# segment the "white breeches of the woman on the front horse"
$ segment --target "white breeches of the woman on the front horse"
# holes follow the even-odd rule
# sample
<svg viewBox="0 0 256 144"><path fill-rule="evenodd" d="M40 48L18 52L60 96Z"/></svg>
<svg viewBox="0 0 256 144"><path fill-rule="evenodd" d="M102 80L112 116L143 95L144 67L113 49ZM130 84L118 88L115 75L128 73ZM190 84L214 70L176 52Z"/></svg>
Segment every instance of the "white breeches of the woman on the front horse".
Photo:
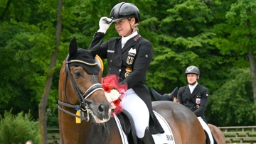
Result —
<svg viewBox="0 0 256 144"><path fill-rule="evenodd" d="M143 138L145 129L149 126L149 109L132 88L127 90L122 99L122 108L132 115L137 137Z"/></svg>

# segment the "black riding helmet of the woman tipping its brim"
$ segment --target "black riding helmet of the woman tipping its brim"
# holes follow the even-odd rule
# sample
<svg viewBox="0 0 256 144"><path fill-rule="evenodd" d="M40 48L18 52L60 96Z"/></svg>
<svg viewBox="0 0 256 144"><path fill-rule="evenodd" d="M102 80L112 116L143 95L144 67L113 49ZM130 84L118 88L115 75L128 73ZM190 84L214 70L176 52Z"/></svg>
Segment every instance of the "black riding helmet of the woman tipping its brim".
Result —
<svg viewBox="0 0 256 144"><path fill-rule="evenodd" d="M112 22L118 21L123 18L135 17L136 23L139 23L139 9L132 3L121 2L113 7L110 12L110 18Z"/></svg>

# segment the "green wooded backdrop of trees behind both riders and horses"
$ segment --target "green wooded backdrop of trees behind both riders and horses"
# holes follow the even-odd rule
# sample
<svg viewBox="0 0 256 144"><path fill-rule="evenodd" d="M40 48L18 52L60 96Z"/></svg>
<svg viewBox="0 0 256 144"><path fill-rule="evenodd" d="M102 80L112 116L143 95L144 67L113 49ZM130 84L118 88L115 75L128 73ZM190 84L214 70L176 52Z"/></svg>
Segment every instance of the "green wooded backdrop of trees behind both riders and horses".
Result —
<svg viewBox="0 0 256 144"><path fill-rule="evenodd" d="M1 121L4 113L22 113L38 123L41 107L47 128L58 128L58 77L70 40L76 37L78 46L87 49L100 18L110 16L112 7L122 1L61 2L58 17L60 1L0 0ZM209 91L208 123L255 126L256 1L125 2L139 8L139 33L154 46L146 77L149 89L167 94L182 87L187 84L186 67L196 65L201 71L198 82ZM104 40L118 36L112 25Z"/></svg>

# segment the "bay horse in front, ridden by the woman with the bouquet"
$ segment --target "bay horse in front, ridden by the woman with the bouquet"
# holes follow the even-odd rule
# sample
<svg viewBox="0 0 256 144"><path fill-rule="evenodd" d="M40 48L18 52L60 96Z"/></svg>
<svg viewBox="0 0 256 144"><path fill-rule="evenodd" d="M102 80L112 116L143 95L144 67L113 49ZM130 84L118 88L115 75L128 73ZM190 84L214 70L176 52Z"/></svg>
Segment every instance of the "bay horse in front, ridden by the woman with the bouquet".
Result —
<svg viewBox="0 0 256 144"><path fill-rule="evenodd" d="M95 64L95 55L78 48L73 38L60 70L58 121L61 144L122 144L117 123L110 116L110 104L100 85L101 74L102 70ZM201 123L185 106L172 101L154 101L152 105L169 124L176 144L205 144Z"/></svg>

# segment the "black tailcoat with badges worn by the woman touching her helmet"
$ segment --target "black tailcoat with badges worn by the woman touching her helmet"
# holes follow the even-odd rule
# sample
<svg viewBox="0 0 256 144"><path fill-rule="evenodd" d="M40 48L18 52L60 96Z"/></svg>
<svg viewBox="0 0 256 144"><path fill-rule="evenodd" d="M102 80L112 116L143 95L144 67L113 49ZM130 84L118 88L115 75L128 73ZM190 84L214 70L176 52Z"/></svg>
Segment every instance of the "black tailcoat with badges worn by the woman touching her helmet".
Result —
<svg viewBox="0 0 256 144"><path fill-rule="evenodd" d="M124 79L122 83L127 83L128 89L134 92L145 102L149 109L149 128L152 134L164 133L159 121L152 110L151 95L145 84L146 70L153 58L153 48L149 40L142 38L139 34L127 40L122 48L121 37L110 38L102 44L104 33L96 33L89 46L93 55L97 54L102 59L107 58L108 73L116 74ZM135 52L136 54L132 54ZM132 70L128 77L124 77L127 67ZM139 109L139 106L137 106Z"/></svg>

